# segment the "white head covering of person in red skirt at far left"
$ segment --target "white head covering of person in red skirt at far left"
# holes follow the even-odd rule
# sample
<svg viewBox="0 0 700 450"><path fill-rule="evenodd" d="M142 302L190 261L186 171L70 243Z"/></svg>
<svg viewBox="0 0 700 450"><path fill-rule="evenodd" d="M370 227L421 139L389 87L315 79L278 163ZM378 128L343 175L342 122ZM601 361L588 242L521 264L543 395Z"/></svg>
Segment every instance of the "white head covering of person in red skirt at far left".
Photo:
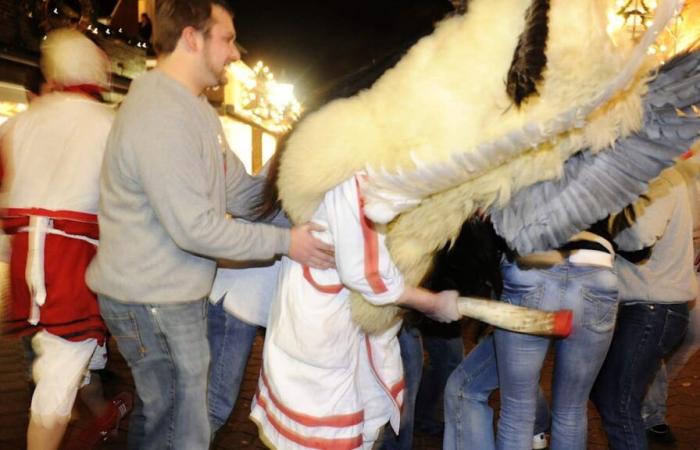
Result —
<svg viewBox="0 0 700 450"><path fill-rule="evenodd" d="M47 81L109 87L110 70L107 55L77 30L51 31L41 44L41 71Z"/></svg>

